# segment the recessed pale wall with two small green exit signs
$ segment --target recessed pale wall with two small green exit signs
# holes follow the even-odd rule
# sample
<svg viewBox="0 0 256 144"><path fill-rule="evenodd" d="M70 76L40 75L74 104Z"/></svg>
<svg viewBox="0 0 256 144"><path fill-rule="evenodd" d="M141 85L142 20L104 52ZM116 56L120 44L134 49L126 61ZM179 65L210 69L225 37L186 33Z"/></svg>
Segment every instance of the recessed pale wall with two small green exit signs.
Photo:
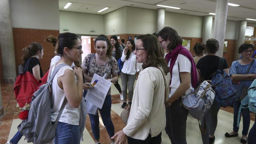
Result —
<svg viewBox="0 0 256 144"><path fill-rule="evenodd" d="M68 28L69 31L63 31ZM90 32L90 30L95 32ZM60 33L70 32L77 34L100 35L104 33L103 15L60 11Z"/></svg>

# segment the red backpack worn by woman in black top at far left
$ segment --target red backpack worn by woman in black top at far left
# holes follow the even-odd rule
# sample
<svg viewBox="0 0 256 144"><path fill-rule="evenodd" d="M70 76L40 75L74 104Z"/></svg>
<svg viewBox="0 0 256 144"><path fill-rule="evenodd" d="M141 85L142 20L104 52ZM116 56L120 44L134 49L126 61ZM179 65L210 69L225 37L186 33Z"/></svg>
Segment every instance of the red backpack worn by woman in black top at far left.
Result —
<svg viewBox="0 0 256 144"><path fill-rule="evenodd" d="M17 76L13 91L19 107L24 107L26 103L30 104L38 85L39 81L29 71Z"/></svg>

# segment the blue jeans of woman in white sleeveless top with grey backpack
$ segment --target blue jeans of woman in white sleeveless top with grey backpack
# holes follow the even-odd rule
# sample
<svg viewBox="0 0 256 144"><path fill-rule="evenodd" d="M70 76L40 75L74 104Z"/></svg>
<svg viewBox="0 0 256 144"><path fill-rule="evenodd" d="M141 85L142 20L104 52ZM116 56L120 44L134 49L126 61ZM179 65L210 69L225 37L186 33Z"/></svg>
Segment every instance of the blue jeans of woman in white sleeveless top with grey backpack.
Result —
<svg viewBox="0 0 256 144"><path fill-rule="evenodd" d="M54 144L80 144L79 125L58 122Z"/></svg>

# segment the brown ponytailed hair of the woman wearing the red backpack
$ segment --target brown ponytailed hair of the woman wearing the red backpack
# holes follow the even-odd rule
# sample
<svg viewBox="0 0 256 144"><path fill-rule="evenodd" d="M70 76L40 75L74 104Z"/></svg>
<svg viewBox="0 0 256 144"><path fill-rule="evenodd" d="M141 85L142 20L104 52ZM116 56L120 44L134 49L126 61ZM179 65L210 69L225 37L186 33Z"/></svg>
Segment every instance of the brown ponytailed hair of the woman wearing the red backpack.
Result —
<svg viewBox="0 0 256 144"><path fill-rule="evenodd" d="M31 42L31 44L22 49L22 66L26 63L26 61L31 57L35 56L38 51L42 52L42 45L37 42Z"/></svg>

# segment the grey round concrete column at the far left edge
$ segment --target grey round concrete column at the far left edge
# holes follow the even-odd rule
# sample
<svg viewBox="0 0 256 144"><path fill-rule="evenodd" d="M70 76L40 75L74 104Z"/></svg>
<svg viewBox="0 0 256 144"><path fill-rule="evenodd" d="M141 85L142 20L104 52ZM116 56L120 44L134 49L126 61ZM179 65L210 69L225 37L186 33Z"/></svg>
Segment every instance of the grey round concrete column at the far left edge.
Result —
<svg viewBox="0 0 256 144"><path fill-rule="evenodd" d="M0 44L5 83L14 83L16 78L13 29L10 0L0 0Z"/></svg>

